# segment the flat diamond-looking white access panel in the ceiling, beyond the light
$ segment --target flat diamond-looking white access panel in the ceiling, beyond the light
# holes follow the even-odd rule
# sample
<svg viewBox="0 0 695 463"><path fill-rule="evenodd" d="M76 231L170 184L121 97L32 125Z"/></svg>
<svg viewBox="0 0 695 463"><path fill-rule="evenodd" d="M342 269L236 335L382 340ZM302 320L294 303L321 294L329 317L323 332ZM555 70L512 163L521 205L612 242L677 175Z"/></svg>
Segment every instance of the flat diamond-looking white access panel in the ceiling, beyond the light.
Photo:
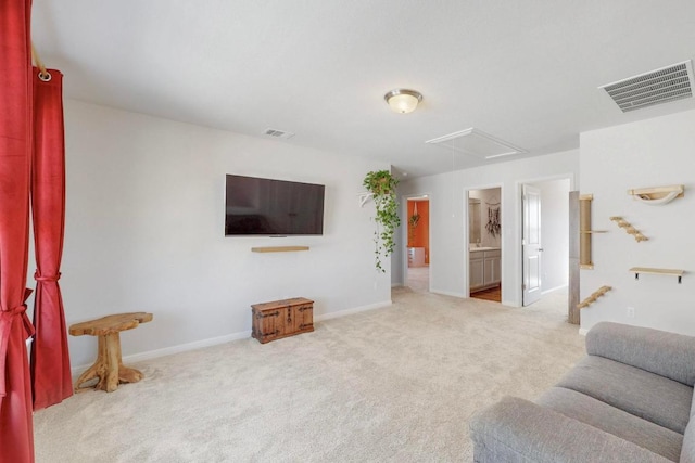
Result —
<svg viewBox="0 0 695 463"><path fill-rule="evenodd" d="M470 129L460 130L458 132L428 140L425 143L483 159L492 159L494 157L509 156L527 152L511 143L507 143L504 140L500 140L498 138L472 127Z"/></svg>

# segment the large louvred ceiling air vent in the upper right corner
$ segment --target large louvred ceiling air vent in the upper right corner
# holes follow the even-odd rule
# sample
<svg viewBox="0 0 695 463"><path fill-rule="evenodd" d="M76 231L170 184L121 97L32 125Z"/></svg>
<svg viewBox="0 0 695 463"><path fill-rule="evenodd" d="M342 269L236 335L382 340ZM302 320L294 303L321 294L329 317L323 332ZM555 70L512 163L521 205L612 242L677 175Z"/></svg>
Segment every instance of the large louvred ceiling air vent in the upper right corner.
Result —
<svg viewBox="0 0 695 463"><path fill-rule="evenodd" d="M678 63L599 87L623 113L693 97L693 63Z"/></svg>

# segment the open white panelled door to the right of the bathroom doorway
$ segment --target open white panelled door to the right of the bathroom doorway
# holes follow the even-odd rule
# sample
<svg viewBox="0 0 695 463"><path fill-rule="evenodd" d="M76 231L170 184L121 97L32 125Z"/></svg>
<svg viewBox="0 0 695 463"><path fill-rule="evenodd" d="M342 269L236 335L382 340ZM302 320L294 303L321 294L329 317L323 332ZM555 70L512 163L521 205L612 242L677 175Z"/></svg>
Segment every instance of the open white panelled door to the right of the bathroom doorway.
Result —
<svg viewBox="0 0 695 463"><path fill-rule="evenodd" d="M541 190L523 185L523 305L541 298Z"/></svg>

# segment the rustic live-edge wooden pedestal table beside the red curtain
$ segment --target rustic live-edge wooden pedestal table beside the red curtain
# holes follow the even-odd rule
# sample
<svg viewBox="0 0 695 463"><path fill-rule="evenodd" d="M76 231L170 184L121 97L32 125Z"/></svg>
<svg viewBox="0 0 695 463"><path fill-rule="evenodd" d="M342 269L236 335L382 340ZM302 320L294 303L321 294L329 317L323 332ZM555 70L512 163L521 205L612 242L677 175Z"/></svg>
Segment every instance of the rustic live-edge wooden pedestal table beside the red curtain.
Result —
<svg viewBox="0 0 695 463"><path fill-rule="evenodd" d="M152 313L134 312L108 316L88 322L76 323L70 327L70 334L81 336L99 336L99 351L97 361L75 383L75 393L91 389L92 386L80 387L96 377L99 382L94 389L113 393L121 383L137 383L142 380L142 373L136 369L124 366L121 360L121 332L132 330L140 323L152 320Z"/></svg>

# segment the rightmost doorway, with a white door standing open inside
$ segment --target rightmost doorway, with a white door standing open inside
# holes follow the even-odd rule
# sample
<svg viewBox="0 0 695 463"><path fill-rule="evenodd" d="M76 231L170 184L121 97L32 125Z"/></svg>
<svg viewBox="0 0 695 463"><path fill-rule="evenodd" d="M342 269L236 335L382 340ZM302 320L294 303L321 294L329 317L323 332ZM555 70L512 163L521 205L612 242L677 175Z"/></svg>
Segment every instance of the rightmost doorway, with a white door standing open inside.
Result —
<svg viewBox="0 0 695 463"><path fill-rule="evenodd" d="M522 306L553 293L564 299L569 282L570 179L521 184Z"/></svg>

